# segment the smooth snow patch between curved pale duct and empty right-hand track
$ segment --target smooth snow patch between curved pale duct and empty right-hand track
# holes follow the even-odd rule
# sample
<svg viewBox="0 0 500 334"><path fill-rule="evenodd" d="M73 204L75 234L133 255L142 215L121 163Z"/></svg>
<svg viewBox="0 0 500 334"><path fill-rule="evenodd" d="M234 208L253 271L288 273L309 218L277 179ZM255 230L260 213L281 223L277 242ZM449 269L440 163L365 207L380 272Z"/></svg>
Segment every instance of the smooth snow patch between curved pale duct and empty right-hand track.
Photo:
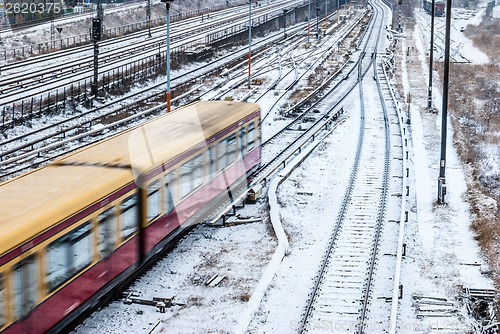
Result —
<svg viewBox="0 0 500 334"><path fill-rule="evenodd" d="M250 333L293 333L302 319L353 165L359 105L279 189L280 214L290 242ZM347 168L346 168L347 167Z"/></svg>

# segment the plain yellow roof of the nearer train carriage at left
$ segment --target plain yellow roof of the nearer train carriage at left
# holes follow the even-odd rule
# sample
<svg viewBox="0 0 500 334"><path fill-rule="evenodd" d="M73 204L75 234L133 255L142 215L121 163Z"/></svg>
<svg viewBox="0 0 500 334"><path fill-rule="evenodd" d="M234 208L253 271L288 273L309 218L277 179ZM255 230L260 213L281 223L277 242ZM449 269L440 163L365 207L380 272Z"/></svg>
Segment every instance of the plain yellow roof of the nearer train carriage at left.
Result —
<svg viewBox="0 0 500 334"><path fill-rule="evenodd" d="M129 169L49 165L0 186L0 256L126 184Z"/></svg>

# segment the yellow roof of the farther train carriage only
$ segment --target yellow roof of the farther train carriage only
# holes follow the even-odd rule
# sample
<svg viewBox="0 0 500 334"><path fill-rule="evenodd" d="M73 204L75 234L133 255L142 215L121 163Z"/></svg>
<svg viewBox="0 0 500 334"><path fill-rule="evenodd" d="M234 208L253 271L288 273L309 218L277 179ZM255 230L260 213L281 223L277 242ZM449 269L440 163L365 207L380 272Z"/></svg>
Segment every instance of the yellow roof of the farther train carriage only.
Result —
<svg viewBox="0 0 500 334"><path fill-rule="evenodd" d="M125 134L71 154L58 163L131 166L147 172L259 110L253 103L199 102ZM167 149L166 149L167 148Z"/></svg>

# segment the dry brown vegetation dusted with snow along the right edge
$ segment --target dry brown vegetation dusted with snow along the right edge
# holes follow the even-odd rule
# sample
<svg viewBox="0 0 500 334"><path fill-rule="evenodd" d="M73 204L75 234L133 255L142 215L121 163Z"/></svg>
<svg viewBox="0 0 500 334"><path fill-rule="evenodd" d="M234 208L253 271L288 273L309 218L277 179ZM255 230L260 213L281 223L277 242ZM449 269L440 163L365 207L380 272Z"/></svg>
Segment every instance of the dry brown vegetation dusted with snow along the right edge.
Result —
<svg viewBox="0 0 500 334"><path fill-rule="evenodd" d="M485 18L467 34L490 63L451 64L449 107L454 143L468 169L472 228L500 289L500 20Z"/></svg>

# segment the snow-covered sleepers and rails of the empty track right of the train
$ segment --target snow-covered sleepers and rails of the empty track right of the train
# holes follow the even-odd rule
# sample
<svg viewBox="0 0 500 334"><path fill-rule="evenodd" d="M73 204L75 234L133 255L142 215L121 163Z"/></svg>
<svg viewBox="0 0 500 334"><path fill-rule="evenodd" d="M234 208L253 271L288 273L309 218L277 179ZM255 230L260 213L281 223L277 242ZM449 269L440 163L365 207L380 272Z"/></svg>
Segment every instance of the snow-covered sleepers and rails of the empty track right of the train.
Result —
<svg viewBox="0 0 500 334"><path fill-rule="evenodd" d="M356 324L357 332L364 332L362 324L385 212L390 158L387 124L381 128L383 115L370 110L372 108L365 108L366 123L350 187L308 306L305 329L314 326L315 322L328 321Z"/></svg>

